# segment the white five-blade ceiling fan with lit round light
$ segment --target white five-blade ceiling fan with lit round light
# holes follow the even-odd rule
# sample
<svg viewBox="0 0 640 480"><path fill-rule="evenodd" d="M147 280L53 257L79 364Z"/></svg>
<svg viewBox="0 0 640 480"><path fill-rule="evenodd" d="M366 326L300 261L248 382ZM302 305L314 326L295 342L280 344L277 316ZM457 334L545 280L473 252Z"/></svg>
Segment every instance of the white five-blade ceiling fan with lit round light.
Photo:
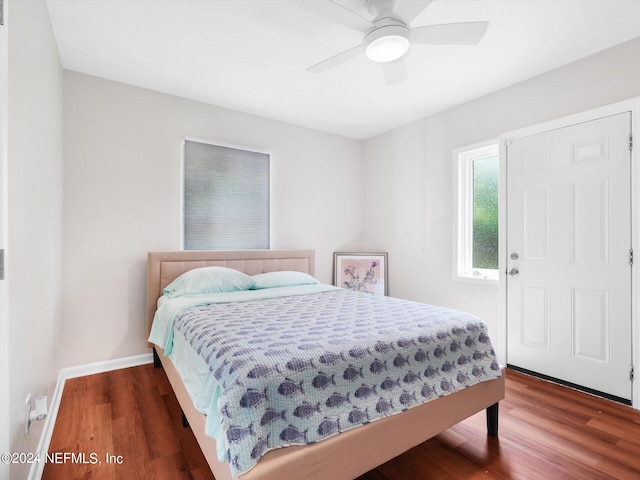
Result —
<svg viewBox="0 0 640 480"><path fill-rule="evenodd" d="M302 0L304 9L364 34L362 43L307 68L322 73L365 54L382 65L387 85L407 78L404 55L411 44L475 45L489 22L445 23L410 27L433 0L358 0L371 20L334 0Z"/></svg>

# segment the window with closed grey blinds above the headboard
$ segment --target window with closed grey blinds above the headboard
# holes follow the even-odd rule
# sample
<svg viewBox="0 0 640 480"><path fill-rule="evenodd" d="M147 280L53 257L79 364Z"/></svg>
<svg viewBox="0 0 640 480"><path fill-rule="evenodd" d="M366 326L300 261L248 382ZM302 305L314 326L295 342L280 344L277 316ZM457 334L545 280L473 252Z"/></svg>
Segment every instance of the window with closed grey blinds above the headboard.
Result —
<svg viewBox="0 0 640 480"><path fill-rule="evenodd" d="M269 155L184 142L184 249L269 248Z"/></svg>

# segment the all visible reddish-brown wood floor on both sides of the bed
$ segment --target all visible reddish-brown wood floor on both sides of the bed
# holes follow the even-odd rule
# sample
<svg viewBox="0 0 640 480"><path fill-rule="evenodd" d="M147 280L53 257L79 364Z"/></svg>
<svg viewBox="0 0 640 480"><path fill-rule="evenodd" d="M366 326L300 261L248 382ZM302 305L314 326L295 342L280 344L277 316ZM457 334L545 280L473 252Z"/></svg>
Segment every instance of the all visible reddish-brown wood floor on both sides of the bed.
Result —
<svg viewBox="0 0 640 480"><path fill-rule="evenodd" d="M640 479L640 412L513 371L500 405L498 439L480 413L360 480ZM212 479L180 418L151 365L70 379L49 449L60 463L43 478Z"/></svg>

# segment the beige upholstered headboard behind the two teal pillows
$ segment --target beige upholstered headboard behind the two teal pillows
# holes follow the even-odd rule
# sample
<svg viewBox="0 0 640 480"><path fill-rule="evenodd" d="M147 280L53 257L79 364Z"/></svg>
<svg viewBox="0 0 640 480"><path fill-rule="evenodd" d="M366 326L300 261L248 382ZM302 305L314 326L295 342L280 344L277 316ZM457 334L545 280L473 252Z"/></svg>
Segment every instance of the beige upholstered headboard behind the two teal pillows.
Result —
<svg viewBox="0 0 640 480"><path fill-rule="evenodd" d="M180 274L199 267L235 268L248 275L294 270L314 274L314 250L179 250L147 255L147 336L162 289Z"/></svg>

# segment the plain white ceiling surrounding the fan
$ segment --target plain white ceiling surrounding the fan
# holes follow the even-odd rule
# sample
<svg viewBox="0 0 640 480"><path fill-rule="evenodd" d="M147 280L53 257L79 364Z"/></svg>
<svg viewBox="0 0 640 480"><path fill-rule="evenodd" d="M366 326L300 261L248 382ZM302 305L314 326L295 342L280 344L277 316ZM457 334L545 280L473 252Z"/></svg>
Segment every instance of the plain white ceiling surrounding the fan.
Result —
<svg viewBox="0 0 640 480"><path fill-rule="evenodd" d="M413 45L409 78L386 86L365 57L307 72L362 34L300 0L47 3L66 69L355 139L640 36L640 0L435 0L412 27L488 20L487 34L476 46Z"/></svg>

